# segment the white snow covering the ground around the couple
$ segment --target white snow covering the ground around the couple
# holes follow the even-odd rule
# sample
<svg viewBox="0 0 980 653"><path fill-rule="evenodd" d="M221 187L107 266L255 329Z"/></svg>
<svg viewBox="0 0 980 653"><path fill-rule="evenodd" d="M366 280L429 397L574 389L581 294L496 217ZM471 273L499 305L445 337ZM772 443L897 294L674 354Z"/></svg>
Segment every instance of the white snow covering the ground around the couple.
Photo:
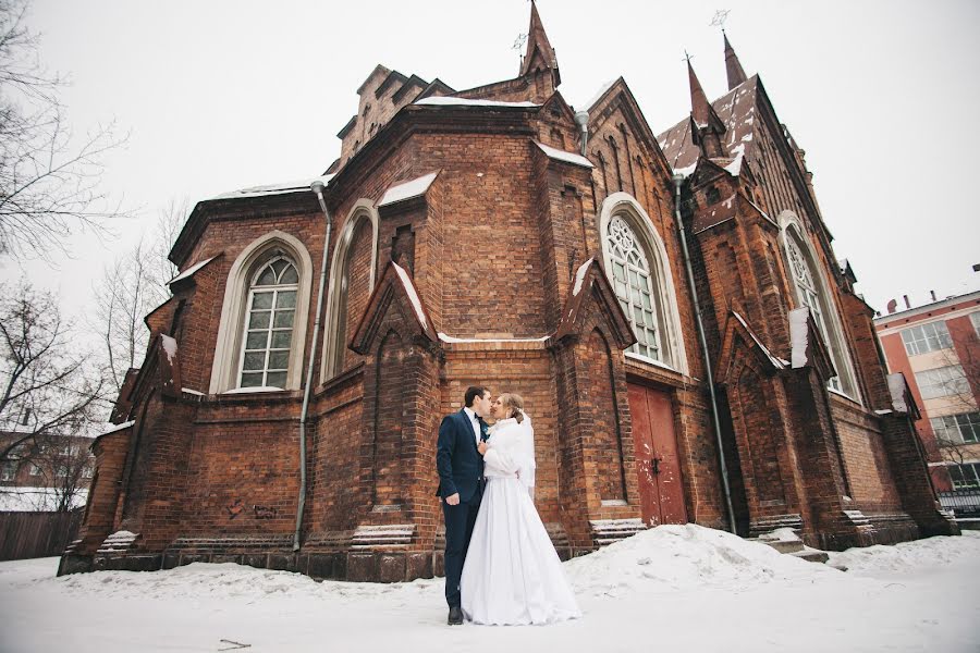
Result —
<svg viewBox="0 0 980 653"><path fill-rule="evenodd" d="M697 526L565 564L585 612L543 627L449 627L441 579L316 582L194 564L54 578L0 563L0 651L977 651L980 533L833 554L840 571ZM222 641L226 640L226 641Z"/></svg>

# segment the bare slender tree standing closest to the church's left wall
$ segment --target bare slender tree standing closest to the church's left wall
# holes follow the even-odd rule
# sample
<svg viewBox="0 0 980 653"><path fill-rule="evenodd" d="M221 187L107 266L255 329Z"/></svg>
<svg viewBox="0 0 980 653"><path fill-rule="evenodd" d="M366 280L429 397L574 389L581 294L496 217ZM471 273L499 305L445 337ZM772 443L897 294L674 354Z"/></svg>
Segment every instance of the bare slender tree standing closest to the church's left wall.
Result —
<svg viewBox="0 0 980 653"><path fill-rule="evenodd" d="M118 393L126 370L143 361L149 331L143 319L170 297L167 282L176 275L168 260L170 247L183 224L186 202L171 201L146 236L107 268L94 288L93 328L102 342L103 371Z"/></svg>

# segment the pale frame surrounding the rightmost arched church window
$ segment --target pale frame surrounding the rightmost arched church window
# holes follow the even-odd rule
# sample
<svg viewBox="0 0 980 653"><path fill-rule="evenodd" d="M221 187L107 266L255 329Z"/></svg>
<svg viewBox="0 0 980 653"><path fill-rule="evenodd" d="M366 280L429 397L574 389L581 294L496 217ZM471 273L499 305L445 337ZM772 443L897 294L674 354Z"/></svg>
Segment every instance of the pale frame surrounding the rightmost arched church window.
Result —
<svg viewBox="0 0 980 653"><path fill-rule="evenodd" d="M817 328L826 343L831 360L837 371L836 377L828 380L828 389L857 403L861 403L857 375L854 371L854 361L850 358L850 350L844 338L844 328L834 295L829 291L830 285L823 274L823 267L818 264L820 259L813 251L807 230L804 229L803 222L792 211L783 211L780 214L780 239L783 245L788 282L795 291L795 307L806 306L810 309L810 315L813 317L813 321L817 323ZM793 266L792 246L795 246L803 256L801 262L806 266L806 271L812 279L812 288L806 288L798 283ZM814 304L817 315L814 315Z"/></svg>

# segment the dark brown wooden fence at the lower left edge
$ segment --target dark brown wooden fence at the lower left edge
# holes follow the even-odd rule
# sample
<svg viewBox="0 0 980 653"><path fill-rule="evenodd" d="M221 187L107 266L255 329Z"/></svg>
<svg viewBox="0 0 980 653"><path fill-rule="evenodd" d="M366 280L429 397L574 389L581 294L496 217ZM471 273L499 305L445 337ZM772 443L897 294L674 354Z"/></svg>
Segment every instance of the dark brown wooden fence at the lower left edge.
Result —
<svg viewBox="0 0 980 653"><path fill-rule="evenodd" d="M0 513L0 560L61 555L81 526L82 510Z"/></svg>

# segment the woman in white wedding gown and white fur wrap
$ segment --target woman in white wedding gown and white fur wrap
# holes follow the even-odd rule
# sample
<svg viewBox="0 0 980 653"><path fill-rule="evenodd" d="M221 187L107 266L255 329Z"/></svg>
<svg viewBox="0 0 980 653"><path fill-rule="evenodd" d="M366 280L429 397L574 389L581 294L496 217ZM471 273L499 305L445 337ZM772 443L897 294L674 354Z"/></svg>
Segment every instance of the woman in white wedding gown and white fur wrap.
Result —
<svg viewBox="0 0 980 653"><path fill-rule="evenodd" d="M554 545L535 509L535 431L524 399L493 402L497 423L479 446L487 489L461 580L475 624L550 624L581 616Z"/></svg>

